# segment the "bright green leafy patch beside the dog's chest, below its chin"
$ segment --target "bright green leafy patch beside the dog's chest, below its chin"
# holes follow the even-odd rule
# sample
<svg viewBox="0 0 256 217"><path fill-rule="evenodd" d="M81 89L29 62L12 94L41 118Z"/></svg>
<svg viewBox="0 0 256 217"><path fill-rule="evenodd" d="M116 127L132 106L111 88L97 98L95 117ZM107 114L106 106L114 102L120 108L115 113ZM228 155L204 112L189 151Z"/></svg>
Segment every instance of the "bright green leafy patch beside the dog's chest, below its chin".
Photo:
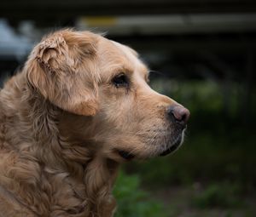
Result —
<svg viewBox="0 0 256 217"><path fill-rule="evenodd" d="M140 188L137 175L121 172L113 194L118 202L115 217L166 217L162 203Z"/></svg>

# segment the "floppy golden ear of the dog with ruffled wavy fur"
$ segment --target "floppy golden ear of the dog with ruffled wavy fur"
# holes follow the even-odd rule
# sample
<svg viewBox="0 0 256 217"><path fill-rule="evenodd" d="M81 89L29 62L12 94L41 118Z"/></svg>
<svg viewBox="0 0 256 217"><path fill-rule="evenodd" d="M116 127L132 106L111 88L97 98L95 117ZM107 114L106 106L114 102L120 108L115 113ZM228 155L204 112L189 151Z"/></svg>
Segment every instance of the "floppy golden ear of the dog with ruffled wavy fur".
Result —
<svg viewBox="0 0 256 217"><path fill-rule="evenodd" d="M96 38L90 32L65 30L43 39L26 62L32 88L63 110L95 115L99 82Z"/></svg>

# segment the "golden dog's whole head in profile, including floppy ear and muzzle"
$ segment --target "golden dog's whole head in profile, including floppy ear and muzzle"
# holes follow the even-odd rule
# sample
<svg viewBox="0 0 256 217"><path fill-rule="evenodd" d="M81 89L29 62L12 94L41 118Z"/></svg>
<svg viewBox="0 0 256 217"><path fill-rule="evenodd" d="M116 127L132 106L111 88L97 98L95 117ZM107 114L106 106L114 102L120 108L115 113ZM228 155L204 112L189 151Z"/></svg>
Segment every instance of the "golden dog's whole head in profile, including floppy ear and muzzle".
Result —
<svg viewBox="0 0 256 217"><path fill-rule="evenodd" d="M147 66L125 45L58 31L35 47L26 71L33 89L70 114L66 133L76 131L105 157L163 156L183 142L189 111L150 89Z"/></svg>

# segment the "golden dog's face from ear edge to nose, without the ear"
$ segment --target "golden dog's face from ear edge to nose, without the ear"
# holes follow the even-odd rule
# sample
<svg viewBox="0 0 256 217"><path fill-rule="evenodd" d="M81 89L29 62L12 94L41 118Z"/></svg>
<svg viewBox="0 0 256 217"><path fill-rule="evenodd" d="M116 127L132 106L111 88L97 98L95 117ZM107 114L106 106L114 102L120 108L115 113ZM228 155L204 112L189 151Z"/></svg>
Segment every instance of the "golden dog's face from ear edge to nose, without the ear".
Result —
<svg viewBox="0 0 256 217"><path fill-rule="evenodd" d="M189 111L150 89L148 68L132 49L103 38L98 54L102 83L96 140L105 153L129 159L174 151L182 143ZM183 116L180 122L175 112Z"/></svg>

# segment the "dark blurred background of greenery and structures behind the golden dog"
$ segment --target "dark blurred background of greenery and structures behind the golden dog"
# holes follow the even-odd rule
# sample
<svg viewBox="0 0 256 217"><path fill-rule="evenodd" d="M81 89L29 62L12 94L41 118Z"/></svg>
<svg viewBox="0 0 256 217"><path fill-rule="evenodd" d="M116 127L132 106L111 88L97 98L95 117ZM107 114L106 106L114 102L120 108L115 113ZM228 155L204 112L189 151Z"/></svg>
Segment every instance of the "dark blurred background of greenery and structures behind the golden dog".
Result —
<svg viewBox="0 0 256 217"><path fill-rule="evenodd" d="M191 112L176 153L124 165L115 216L256 216L256 2L3 0L1 87L45 33L67 26L136 49L153 89Z"/></svg>

